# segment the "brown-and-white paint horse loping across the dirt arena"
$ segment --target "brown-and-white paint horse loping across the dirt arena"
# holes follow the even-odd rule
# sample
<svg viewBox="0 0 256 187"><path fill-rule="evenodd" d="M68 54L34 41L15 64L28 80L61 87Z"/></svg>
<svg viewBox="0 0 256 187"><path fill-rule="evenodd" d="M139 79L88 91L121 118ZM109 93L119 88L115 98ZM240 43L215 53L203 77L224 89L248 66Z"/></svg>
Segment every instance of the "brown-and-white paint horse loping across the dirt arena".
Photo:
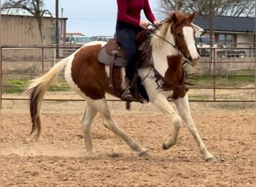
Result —
<svg viewBox="0 0 256 187"><path fill-rule="evenodd" d="M189 99L186 94L185 71L182 65L183 58L186 58L192 66L198 63L199 55L195 45L195 30L192 27L194 18L195 12L191 15L186 15L180 11L170 13L160 28L150 34L152 64L148 67L138 68L138 76L141 78L141 84L147 92L149 101L166 114L174 125L172 135L164 141L162 148L166 150L177 144L181 116L195 138L199 152L204 155L204 159L208 162L215 158L205 147L192 120ZM107 129L124 140L132 150L138 152L139 156L147 156L147 150L129 138L118 127L109 111L105 94L119 95L109 86L109 65L100 63L97 58L100 49L105 45L106 43L97 41L85 44L72 55L55 64L48 73L31 82L26 91L30 96L31 134L36 132L37 138L40 137L40 108L43 96L52 79L66 67L64 76L68 85L87 102L81 119L87 153L89 155L95 153L91 138L91 123L99 112L103 125ZM112 71L113 77L111 79L113 79L115 90L124 93L126 91L124 67L113 67ZM167 96L170 95L180 115L174 111L168 102Z"/></svg>

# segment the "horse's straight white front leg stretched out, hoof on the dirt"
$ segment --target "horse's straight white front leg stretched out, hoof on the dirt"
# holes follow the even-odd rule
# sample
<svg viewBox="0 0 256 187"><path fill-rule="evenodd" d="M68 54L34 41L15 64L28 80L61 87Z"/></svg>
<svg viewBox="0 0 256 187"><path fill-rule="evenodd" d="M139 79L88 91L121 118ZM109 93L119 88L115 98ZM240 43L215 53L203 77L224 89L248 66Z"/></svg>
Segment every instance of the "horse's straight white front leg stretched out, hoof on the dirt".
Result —
<svg viewBox="0 0 256 187"><path fill-rule="evenodd" d="M214 156L205 147L204 142L202 141L198 133L198 129L195 126L194 120L192 119L192 116L190 114L188 96L186 95L183 98L174 99L174 103L177 106L177 110L179 111L180 116L185 121L186 126L188 127L192 136L195 138L195 142L198 144L198 150L201 154L204 155L204 159L207 162L215 161Z"/></svg>

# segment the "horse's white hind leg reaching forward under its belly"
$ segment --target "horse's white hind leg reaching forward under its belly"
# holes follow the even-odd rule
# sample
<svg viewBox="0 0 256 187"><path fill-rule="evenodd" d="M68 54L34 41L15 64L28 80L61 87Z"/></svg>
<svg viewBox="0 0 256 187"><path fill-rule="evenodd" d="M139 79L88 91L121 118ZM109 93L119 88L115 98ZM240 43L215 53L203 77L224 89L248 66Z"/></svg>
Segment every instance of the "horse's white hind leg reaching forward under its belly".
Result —
<svg viewBox="0 0 256 187"><path fill-rule="evenodd" d="M129 136L123 132L118 125L113 120L110 111L109 106L106 102L106 99L87 99L88 102L91 103L91 105L94 105L94 107L97 109L97 111L100 113L100 116L103 118L103 125L114 132L116 135L118 135L120 138L122 138L128 145L131 147L132 150L135 150L138 152L139 156L147 156L147 151L144 150L143 147L141 147L139 144L137 144L135 141L132 140L132 138L129 138Z"/></svg>

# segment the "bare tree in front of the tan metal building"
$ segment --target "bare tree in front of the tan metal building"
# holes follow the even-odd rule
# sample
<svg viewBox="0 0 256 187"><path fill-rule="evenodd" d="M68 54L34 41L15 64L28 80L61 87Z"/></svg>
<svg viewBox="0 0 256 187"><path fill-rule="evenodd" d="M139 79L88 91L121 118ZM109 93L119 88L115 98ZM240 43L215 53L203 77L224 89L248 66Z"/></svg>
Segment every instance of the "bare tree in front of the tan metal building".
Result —
<svg viewBox="0 0 256 187"><path fill-rule="evenodd" d="M43 15L48 13L52 16L49 10L43 9L43 0L5 0L1 5L1 10L7 10L8 13L13 13L14 11L24 11L25 13L30 13L37 19L38 29L40 31L41 44L45 45L45 33L43 30Z"/></svg>

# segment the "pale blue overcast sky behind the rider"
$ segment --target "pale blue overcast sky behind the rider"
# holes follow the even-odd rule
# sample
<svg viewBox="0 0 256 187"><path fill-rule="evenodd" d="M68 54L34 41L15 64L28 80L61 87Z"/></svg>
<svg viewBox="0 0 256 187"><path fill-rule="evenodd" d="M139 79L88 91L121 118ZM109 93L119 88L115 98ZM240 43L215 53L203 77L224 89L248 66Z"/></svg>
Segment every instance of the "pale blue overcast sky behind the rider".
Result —
<svg viewBox="0 0 256 187"><path fill-rule="evenodd" d="M156 16L159 0L149 1ZM44 0L44 4L45 9L55 15L55 0ZM88 37L115 33L116 0L59 0L58 4L59 16L67 17L67 32L81 32Z"/></svg>

